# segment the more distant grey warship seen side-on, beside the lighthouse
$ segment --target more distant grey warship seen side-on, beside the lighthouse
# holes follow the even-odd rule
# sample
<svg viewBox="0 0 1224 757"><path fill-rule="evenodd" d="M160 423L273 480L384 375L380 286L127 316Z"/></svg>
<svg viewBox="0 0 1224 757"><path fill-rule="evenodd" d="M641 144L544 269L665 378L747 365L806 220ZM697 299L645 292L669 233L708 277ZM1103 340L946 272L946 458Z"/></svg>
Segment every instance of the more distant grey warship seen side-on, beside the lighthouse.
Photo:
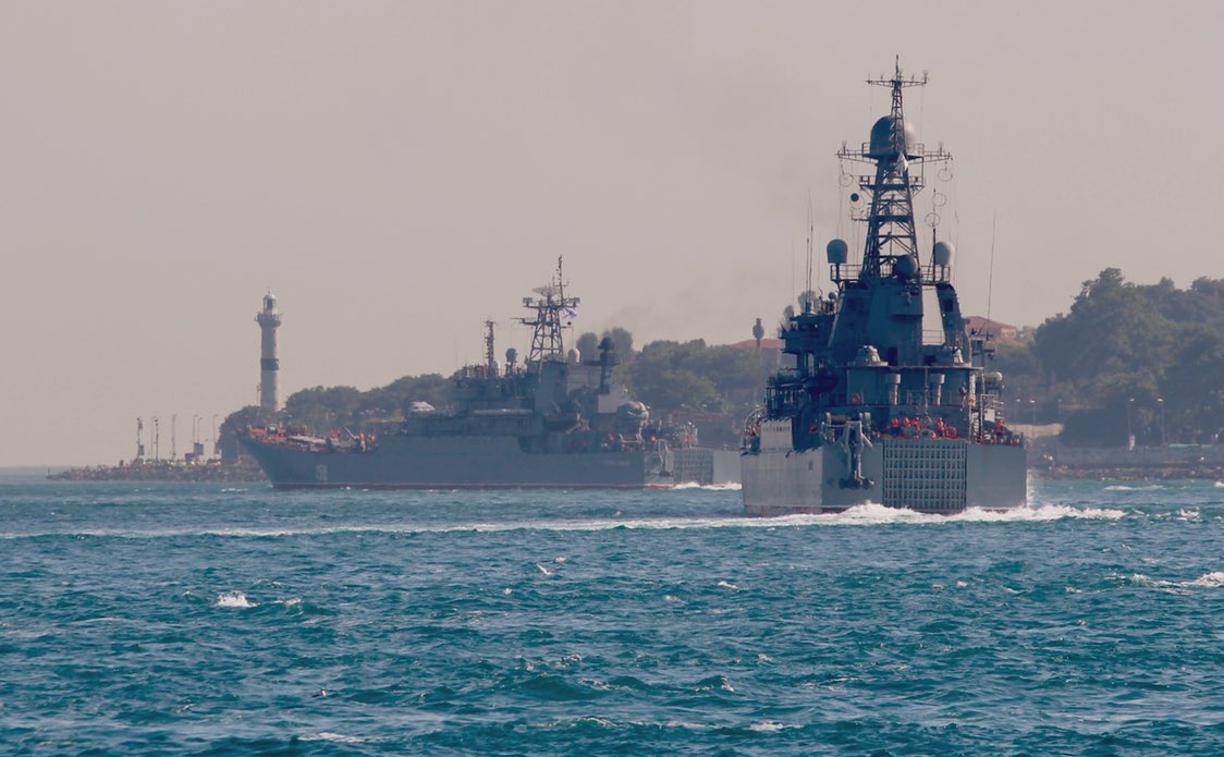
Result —
<svg viewBox="0 0 1224 757"><path fill-rule="evenodd" d="M614 344L597 360L565 350L578 298L565 294L561 261L552 283L524 298L532 314L525 363L494 358L486 322L485 363L455 377L455 408L416 403L381 434L316 436L248 429L242 443L277 489L666 489L738 480L738 452L696 446L693 426L667 426L612 382Z"/></svg>

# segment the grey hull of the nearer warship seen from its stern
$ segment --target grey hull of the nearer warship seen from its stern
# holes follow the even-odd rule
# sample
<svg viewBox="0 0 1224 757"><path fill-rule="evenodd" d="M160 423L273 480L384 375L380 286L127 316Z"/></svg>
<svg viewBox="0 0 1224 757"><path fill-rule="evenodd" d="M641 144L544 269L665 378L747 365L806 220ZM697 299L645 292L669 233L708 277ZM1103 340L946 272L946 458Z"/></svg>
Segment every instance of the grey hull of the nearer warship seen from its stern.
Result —
<svg viewBox="0 0 1224 757"><path fill-rule="evenodd" d="M953 514L967 507L1011 510L1027 500L1027 461L1018 445L884 437L859 452L859 480L848 458L838 445L745 453L741 458L744 511L827 513L876 502Z"/></svg>

